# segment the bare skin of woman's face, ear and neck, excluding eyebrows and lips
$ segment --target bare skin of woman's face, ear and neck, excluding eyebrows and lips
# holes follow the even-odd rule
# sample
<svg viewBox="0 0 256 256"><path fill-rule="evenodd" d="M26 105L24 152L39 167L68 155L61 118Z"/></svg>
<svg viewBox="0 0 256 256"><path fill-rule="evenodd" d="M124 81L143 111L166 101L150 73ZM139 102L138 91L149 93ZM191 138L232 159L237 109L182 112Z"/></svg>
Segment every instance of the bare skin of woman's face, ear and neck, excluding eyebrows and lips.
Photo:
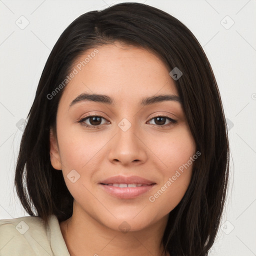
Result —
<svg viewBox="0 0 256 256"><path fill-rule="evenodd" d="M60 229L70 255L161 255L168 214L187 189L192 164L154 202L149 196L189 160L195 143L180 102L139 105L147 96L178 96L170 69L159 57L119 42L97 49L99 52L64 88L56 135L50 131L51 164L62 170L74 198L73 215L60 222ZM80 56L74 67L92 51ZM115 105L82 101L69 107L84 92L106 94ZM103 116L98 128L77 122L89 113ZM154 118L158 115L169 115L177 122L163 119L160 125ZM131 124L126 131L118 126L123 118ZM95 123L89 118L84 122ZM80 175L74 183L67 177L72 169ZM137 175L156 185L133 199L116 198L98 182L118 174ZM123 221L128 232L119 229Z"/></svg>

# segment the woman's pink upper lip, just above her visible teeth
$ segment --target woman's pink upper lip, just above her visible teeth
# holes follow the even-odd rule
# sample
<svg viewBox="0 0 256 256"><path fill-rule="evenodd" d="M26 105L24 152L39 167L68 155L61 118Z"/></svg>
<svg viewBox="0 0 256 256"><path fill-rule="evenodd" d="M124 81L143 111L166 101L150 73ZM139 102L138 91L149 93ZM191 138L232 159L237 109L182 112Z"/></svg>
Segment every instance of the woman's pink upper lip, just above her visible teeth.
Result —
<svg viewBox="0 0 256 256"><path fill-rule="evenodd" d="M106 178L100 181L99 183L103 183L103 184L109 184L109 183L135 184L137 183L137 184L146 184L146 185L155 184L154 181L151 181L149 179L142 178L139 176L121 176L121 175Z"/></svg>

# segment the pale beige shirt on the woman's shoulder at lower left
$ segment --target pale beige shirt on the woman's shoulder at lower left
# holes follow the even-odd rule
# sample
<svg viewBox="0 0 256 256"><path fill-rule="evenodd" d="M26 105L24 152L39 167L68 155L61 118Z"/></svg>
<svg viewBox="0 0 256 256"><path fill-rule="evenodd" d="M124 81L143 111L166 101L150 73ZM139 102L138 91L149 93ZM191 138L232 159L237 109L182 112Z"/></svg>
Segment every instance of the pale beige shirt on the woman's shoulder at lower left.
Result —
<svg viewBox="0 0 256 256"><path fill-rule="evenodd" d="M0 220L0 256L70 256L55 215Z"/></svg>

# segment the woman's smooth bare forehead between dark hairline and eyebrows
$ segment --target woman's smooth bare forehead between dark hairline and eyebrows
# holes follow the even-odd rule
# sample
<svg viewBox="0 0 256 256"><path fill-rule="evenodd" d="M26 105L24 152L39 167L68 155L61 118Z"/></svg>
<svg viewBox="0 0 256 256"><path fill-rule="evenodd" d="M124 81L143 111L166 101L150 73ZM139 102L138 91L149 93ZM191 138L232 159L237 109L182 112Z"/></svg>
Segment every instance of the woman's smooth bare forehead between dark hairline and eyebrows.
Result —
<svg viewBox="0 0 256 256"><path fill-rule="evenodd" d="M120 104L154 94L178 95L167 65L142 47L115 43L91 48L71 70L75 75L61 97L66 103L83 92L106 94Z"/></svg>

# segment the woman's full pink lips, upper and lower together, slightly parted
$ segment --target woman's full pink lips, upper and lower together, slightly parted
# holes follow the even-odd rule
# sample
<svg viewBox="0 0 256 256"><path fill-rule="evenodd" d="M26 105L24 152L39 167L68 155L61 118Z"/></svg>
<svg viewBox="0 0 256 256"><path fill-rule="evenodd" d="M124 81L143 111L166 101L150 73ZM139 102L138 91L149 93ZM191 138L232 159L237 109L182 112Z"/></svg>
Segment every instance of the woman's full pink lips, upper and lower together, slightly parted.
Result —
<svg viewBox="0 0 256 256"><path fill-rule="evenodd" d="M117 187L107 184L112 183L126 183L126 184L142 184L138 187ZM108 194L121 198L121 199L132 199L137 196L148 192L153 186L156 185L154 181L145 179L139 176L113 176L107 179L104 179L99 182L100 187L107 192Z"/></svg>

